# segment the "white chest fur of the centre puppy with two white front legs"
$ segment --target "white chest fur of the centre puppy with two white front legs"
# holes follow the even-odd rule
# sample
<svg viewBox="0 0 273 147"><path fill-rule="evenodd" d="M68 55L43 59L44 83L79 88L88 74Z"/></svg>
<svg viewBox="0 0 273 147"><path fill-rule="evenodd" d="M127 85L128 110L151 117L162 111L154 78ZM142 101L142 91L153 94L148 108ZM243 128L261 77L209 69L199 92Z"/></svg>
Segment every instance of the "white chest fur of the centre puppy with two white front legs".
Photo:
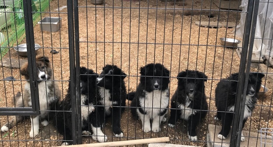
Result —
<svg viewBox="0 0 273 147"><path fill-rule="evenodd" d="M143 107L145 107L147 115L149 115L150 118L154 118L168 107L169 89L166 89L165 91L154 90L153 92L146 92L145 103L144 98L140 98L139 101L142 110L144 110Z"/></svg>

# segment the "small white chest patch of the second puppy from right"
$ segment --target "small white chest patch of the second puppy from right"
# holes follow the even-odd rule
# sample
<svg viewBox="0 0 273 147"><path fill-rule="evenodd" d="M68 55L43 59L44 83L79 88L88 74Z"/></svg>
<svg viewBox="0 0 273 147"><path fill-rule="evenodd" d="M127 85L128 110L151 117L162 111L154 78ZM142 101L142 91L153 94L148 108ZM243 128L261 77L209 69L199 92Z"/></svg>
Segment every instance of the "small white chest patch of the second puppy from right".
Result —
<svg viewBox="0 0 273 147"><path fill-rule="evenodd" d="M190 103L191 103L191 101L188 98L186 98L185 105L184 104L178 105L178 108L181 109L181 119L189 120L189 117L196 113L196 110L192 110L189 107Z"/></svg>

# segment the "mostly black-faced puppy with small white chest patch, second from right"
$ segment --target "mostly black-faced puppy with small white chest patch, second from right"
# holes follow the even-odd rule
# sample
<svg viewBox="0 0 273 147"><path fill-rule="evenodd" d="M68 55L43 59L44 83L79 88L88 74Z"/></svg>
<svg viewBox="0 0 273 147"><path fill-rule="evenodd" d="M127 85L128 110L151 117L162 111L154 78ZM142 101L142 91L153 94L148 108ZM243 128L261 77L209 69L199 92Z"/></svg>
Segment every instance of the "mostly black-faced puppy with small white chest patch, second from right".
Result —
<svg viewBox="0 0 273 147"><path fill-rule="evenodd" d="M178 86L171 100L171 116L168 126L173 128L177 119L188 121L190 140L198 140L196 126L207 114L208 103L205 95L207 76L200 71L186 70L177 75Z"/></svg>

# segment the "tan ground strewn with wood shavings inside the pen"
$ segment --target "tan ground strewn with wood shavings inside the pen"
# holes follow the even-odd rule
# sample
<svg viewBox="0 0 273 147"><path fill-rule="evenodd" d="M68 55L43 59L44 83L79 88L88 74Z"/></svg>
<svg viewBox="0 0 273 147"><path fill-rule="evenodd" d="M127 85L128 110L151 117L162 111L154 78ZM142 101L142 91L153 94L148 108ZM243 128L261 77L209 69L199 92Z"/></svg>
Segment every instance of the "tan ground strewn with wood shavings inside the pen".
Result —
<svg viewBox="0 0 273 147"><path fill-rule="evenodd" d="M66 5L65 0L50 1L48 12L58 12L55 9ZM97 5L103 8L95 8L90 0L79 0L79 6L80 65L93 69L97 73L101 72L105 64L118 65L129 75L125 78L128 91L136 89L138 83L136 76L139 75L139 68L153 62L162 63L171 71L170 98L177 87L177 74L185 69L203 71L209 77L205 83L205 93L208 97L215 96L214 89L219 79L239 71L240 59L236 50L221 47L219 40L220 37L234 38L232 33L234 28L216 29L195 25L195 21L217 21L218 16L219 21L226 22L228 19L230 22L239 22L239 12L219 11L219 8L209 0L204 0L203 3L201 0L178 1L175 5L174 2L167 2L165 5L165 2L162 1L130 3L121 0L115 1L113 5L113 1L106 0L105 8L104 5ZM132 9L129 9L130 7ZM151 9L146 9L147 7ZM174 8L176 9L174 10ZM211 11L208 11L210 9ZM67 8L60 12L67 12ZM209 18L208 15L214 17ZM46 16L62 17L62 28L59 32L50 33L42 32L39 25L34 27L35 43L43 47L38 53L49 56L53 74L58 80L68 80L70 68L67 14L45 13L41 17ZM60 53L52 55L51 49ZM13 49L5 56L18 59L18 55ZM257 69L251 70L257 71ZM268 72L272 72L272 69L269 69ZM8 76L23 79L19 69L1 67L0 73L0 79ZM24 83L25 81L0 81L0 106L14 107L13 96L18 91L23 91ZM257 132L260 128L273 128L272 83L265 80L263 83L266 83L269 92L265 94L265 97L258 99L257 105L260 106L255 108L251 119L246 122L244 130ZM68 82L59 82L59 87L64 97ZM207 99L207 101L210 112L197 128L198 141L185 141L188 140L187 123L183 121L178 121L177 127L174 129L168 128L167 122L165 122L161 124L161 132L144 133L141 130L141 122L132 118L129 108L125 109L122 114L121 123L124 138L112 137L111 118L106 122L103 131L109 136L108 141L170 137L170 143L173 144L206 146L208 124L220 125L220 122L215 122L213 119L216 111L215 101L212 99ZM127 101L127 106L129 105L130 102ZM1 126L6 122L7 116L0 116ZM29 131L30 121L27 119L12 128L9 133L2 132L0 146L57 146L61 143L58 141L62 139L61 135L51 136L48 140L35 138L33 141L29 137ZM91 137L83 137L82 142L94 143L96 141Z"/></svg>

